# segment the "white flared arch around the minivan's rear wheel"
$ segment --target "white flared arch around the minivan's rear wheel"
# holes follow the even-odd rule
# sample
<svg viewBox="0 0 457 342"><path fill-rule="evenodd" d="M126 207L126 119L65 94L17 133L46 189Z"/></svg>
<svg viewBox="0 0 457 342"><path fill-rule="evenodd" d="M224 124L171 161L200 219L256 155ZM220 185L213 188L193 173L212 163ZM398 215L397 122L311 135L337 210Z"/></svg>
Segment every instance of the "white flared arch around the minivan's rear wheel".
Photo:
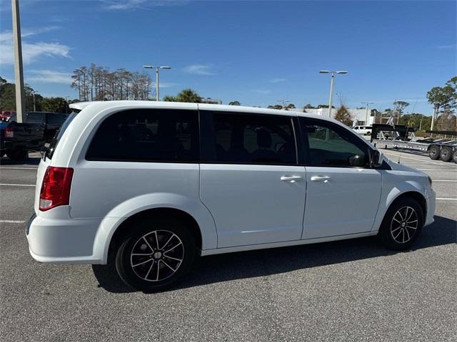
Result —
<svg viewBox="0 0 457 342"><path fill-rule="evenodd" d="M162 192L133 197L111 209L101 221L99 229L96 232L94 257L101 260L102 264L106 264L111 238L122 222L134 214L155 208L179 209L190 214L200 227L201 248L217 248L216 224L204 204L183 195Z"/></svg>

